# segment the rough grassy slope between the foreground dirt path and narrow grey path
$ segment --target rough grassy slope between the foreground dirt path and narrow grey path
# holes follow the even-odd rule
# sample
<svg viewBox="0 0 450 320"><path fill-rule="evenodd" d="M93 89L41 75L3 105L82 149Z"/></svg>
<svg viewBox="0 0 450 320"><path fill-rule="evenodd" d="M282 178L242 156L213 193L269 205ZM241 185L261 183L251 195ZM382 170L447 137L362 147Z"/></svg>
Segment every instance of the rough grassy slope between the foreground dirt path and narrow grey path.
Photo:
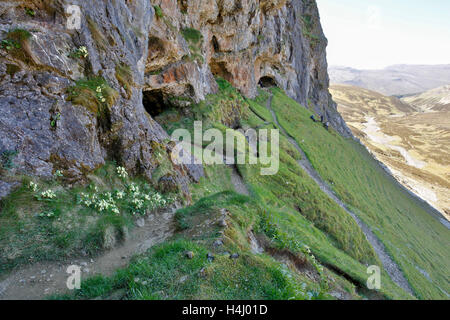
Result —
<svg viewBox="0 0 450 320"><path fill-rule="evenodd" d="M229 116L233 114L230 106L235 105L239 105L245 115L243 126L265 126L261 118L250 111L249 105L252 110L258 109L263 113L263 117L267 97L261 95L256 100L244 101L229 85L219 84L220 93L209 96L206 102L194 109L197 119L206 120L205 128L223 129L223 124L229 122ZM224 106L227 110L221 112ZM163 116L158 120L170 132L177 127L189 127L193 118L170 111L167 118ZM355 284L364 287L367 279L364 263L378 263L372 247L353 220L330 202L300 170L295 161L300 155L284 137L281 149L282 163L278 175L262 177L259 167L239 167L252 191L251 198L233 192L221 193L233 189L230 169L223 165L207 166L206 177L192 186L196 203L177 213L180 226L177 239L136 257L115 277L99 277L84 282L75 297L108 297L117 290L123 290L128 299L330 298L326 291L339 283L341 288L358 298ZM201 229L220 208L227 208L231 213L223 249L212 246L220 236L216 227ZM199 228L200 232L196 232ZM265 234L274 246L297 255L304 255L304 246L309 246L320 263L346 274L353 283L327 268L320 283L314 282L266 254L252 254L247 239L250 230ZM195 258L186 259L183 256L185 250L192 250ZM223 250L238 252L241 258L233 262L223 255ZM207 252L216 254L213 262L206 260ZM328 281L323 282L324 279ZM363 291L359 290L359 294L367 294ZM387 298L411 298L385 273L381 293Z"/></svg>

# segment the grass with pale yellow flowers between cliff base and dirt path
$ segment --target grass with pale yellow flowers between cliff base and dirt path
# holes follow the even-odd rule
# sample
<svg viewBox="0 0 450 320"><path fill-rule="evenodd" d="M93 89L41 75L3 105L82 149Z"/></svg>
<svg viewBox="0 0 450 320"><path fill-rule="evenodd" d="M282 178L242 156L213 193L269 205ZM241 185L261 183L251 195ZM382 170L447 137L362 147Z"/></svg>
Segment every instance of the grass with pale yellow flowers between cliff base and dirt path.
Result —
<svg viewBox="0 0 450 320"><path fill-rule="evenodd" d="M113 228L117 240L126 229L134 225L135 213L144 215L159 202L144 201L138 208L127 190L132 184L139 186L141 194L154 194L143 180L121 178L113 164L107 164L88 176L87 186L66 188L64 178L35 181L38 189L30 188L30 180L0 202L0 274L16 266L47 260L62 260L79 256L84 251L95 255L104 249L104 235ZM47 199L41 193L52 190L55 197ZM122 198L114 194L126 191ZM83 202L83 194L99 199L111 192L119 213L111 209L99 211ZM136 198L141 198L140 196ZM167 205L171 199L164 199Z"/></svg>

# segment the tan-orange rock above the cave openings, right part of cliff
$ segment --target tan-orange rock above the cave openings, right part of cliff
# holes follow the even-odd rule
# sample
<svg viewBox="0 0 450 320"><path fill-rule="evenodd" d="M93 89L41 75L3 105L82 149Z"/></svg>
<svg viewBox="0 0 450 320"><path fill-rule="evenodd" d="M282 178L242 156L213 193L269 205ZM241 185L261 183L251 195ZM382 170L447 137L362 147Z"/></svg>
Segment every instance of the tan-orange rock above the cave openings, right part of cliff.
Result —
<svg viewBox="0 0 450 320"><path fill-rule="evenodd" d="M150 30L144 90L183 97L183 107L215 92L214 77L247 97L257 95L261 79L271 80L350 135L328 93L327 40L315 1L159 0L154 5L158 14ZM196 32L198 42L192 40Z"/></svg>

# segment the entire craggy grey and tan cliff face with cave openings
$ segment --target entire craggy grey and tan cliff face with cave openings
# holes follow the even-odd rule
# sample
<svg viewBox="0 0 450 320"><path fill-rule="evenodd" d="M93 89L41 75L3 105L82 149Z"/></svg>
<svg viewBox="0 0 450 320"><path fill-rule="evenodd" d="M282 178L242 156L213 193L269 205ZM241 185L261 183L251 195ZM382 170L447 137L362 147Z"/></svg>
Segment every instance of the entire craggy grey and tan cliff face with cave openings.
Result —
<svg viewBox="0 0 450 320"><path fill-rule="evenodd" d="M80 8L78 29L70 5ZM0 49L0 153L14 154L4 183L56 170L76 181L106 160L154 179L171 144L153 117L216 92L214 77L248 97L258 83L276 84L349 132L328 93L315 1L2 1L0 39L18 44ZM83 47L87 56L74 54ZM104 114L69 99L77 80L92 77L114 92ZM203 175L199 166L172 168L159 179L185 194Z"/></svg>

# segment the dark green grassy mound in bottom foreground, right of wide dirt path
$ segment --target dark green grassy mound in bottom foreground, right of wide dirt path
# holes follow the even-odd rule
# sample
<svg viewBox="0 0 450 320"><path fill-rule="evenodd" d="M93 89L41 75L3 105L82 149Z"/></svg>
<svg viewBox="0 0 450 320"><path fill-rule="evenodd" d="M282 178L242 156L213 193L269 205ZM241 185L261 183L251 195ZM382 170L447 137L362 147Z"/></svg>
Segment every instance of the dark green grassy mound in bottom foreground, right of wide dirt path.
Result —
<svg viewBox="0 0 450 320"><path fill-rule="evenodd" d="M269 255L250 253L247 232L257 224L257 211L260 209L250 198L233 192L218 193L181 210L177 219L204 221L213 218L224 207L230 211L232 221L226 231L227 240L223 248L211 246L217 237L215 232L211 232L209 237L194 240L186 231L135 257L130 266L119 270L113 277L94 277L84 281L81 290L74 295L53 298L108 298L114 292L122 291L125 299L133 300L331 299L324 290L328 289L327 284L311 281ZM188 229L200 227L193 224ZM185 251L192 251L193 259L187 259ZM225 251L238 252L240 257L231 260ZM214 253L214 261L207 260L208 252ZM328 271L326 277L332 277L348 291L353 288L345 279Z"/></svg>

